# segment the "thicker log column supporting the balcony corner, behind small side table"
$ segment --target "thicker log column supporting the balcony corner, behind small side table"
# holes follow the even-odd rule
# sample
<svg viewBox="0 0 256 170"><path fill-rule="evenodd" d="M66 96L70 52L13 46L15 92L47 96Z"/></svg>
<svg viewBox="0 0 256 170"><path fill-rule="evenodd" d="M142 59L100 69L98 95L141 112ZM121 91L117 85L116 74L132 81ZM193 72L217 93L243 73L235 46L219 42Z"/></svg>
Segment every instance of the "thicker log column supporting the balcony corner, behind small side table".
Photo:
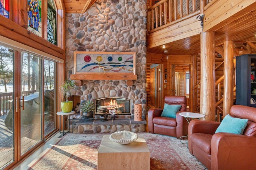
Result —
<svg viewBox="0 0 256 170"><path fill-rule="evenodd" d="M200 113L215 121L215 51L214 32L201 32Z"/></svg>

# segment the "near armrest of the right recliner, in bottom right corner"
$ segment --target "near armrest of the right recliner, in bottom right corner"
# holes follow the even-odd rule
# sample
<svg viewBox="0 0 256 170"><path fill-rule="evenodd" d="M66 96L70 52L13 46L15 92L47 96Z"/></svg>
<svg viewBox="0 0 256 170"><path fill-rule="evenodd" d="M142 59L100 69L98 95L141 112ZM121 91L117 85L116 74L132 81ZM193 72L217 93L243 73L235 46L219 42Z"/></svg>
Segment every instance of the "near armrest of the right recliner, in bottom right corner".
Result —
<svg viewBox="0 0 256 170"><path fill-rule="evenodd" d="M211 169L254 169L256 137L216 133L211 142Z"/></svg>

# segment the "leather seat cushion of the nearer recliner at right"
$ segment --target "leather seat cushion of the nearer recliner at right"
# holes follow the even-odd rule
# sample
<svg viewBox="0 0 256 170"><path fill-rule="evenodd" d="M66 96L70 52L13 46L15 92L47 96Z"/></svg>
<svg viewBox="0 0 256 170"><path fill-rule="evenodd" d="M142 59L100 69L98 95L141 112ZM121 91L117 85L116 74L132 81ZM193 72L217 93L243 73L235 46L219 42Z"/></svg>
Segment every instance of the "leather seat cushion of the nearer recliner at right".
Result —
<svg viewBox="0 0 256 170"><path fill-rule="evenodd" d="M212 135L206 133L192 133L190 135L192 145L201 148L207 154L211 154Z"/></svg>

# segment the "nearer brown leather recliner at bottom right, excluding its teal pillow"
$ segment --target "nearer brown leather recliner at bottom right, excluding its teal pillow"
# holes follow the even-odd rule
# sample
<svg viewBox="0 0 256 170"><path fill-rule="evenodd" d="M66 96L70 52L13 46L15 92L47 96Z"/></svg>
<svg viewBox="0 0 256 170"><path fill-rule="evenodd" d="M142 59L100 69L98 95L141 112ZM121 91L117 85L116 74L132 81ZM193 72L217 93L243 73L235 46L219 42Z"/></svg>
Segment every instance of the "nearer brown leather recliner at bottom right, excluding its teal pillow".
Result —
<svg viewBox="0 0 256 170"><path fill-rule="evenodd" d="M211 170L256 168L256 108L234 105L232 117L248 119L242 135L215 133L219 122L192 120L188 125L188 149Z"/></svg>

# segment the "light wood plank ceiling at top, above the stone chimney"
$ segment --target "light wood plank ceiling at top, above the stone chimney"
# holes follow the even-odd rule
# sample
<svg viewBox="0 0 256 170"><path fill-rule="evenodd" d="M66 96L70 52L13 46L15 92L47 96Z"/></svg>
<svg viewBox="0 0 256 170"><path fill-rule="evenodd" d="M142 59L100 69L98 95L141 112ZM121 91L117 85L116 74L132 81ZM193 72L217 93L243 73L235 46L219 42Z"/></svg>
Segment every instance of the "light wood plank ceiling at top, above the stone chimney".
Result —
<svg viewBox="0 0 256 170"><path fill-rule="evenodd" d="M83 14L97 0L63 0L66 13Z"/></svg>

